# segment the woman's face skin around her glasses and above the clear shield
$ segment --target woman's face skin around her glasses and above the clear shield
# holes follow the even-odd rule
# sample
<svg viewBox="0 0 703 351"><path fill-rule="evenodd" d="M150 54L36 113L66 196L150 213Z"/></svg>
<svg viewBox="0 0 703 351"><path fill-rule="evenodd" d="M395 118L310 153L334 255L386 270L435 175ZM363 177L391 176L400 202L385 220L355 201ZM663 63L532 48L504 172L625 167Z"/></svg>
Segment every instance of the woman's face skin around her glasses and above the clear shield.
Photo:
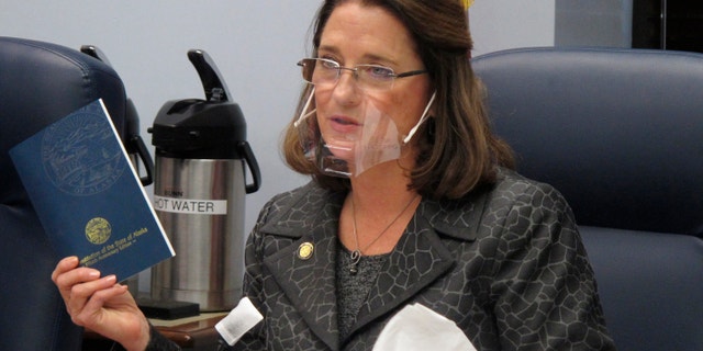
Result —
<svg viewBox="0 0 703 351"><path fill-rule="evenodd" d="M355 1L333 11L323 29L317 54L349 68L380 65L395 73L425 69L402 22L382 8ZM358 134L365 121L371 123L369 111L372 111L377 116L373 123L384 126L388 123L379 121L378 115L390 117L388 121L394 123L402 138L423 114L432 93L429 86L428 76L423 73L395 78L387 89L369 89L360 86L352 71L343 69L336 84L315 87L321 133L327 143L331 135ZM364 133L368 134L368 125Z"/></svg>

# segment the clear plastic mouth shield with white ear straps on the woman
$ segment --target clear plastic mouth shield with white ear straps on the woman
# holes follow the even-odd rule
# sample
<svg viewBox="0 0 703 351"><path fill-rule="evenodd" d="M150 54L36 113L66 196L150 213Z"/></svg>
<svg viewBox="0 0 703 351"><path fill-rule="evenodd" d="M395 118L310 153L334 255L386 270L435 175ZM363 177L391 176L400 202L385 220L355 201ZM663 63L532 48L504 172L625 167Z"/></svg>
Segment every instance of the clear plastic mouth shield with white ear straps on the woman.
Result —
<svg viewBox="0 0 703 351"><path fill-rule="evenodd" d="M401 148L427 120L435 99L433 93L422 116L403 138L393 118L377 109L371 99L364 100L359 116L361 126L354 133L328 132L322 135L315 118L309 118L316 111L308 112L313 95L314 88L293 124L300 134L301 145L308 158L324 173L346 178L358 177L371 167L399 159Z"/></svg>

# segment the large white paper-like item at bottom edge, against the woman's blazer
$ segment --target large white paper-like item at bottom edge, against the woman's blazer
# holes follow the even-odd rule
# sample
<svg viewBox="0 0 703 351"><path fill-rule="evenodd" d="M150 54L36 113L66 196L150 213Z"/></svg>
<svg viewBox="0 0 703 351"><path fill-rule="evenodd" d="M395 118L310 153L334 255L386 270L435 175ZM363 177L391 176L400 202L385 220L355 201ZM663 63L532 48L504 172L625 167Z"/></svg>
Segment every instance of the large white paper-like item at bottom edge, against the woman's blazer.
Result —
<svg viewBox="0 0 703 351"><path fill-rule="evenodd" d="M448 318L420 305L408 305L386 325L373 351L476 351L464 331Z"/></svg>

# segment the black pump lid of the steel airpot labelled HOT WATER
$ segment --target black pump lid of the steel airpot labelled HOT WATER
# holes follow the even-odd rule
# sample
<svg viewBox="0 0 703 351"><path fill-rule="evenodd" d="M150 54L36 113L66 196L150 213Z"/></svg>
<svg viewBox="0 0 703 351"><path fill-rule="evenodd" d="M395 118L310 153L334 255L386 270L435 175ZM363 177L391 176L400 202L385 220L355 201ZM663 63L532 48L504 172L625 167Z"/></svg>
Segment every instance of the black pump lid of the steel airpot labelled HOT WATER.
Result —
<svg viewBox="0 0 703 351"><path fill-rule="evenodd" d="M156 155L177 158L242 158L235 147L246 140L246 121L210 56L188 52L205 90L207 100L167 101L149 128Z"/></svg>

